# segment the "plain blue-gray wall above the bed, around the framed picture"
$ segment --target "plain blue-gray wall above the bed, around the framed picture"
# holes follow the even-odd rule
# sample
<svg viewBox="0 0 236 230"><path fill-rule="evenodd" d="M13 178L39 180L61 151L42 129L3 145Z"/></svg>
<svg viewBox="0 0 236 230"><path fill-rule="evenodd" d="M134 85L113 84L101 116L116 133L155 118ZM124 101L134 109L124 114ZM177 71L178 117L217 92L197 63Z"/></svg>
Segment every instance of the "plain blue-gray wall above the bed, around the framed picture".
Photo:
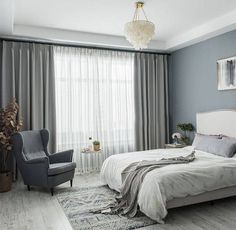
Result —
<svg viewBox="0 0 236 230"><path fill-rule="evenodd" d="M236 109L236 90L218 91L216 61L236 56L236 30L177 50L170 57L170 131L196 124L196 113Z"/></svg>

